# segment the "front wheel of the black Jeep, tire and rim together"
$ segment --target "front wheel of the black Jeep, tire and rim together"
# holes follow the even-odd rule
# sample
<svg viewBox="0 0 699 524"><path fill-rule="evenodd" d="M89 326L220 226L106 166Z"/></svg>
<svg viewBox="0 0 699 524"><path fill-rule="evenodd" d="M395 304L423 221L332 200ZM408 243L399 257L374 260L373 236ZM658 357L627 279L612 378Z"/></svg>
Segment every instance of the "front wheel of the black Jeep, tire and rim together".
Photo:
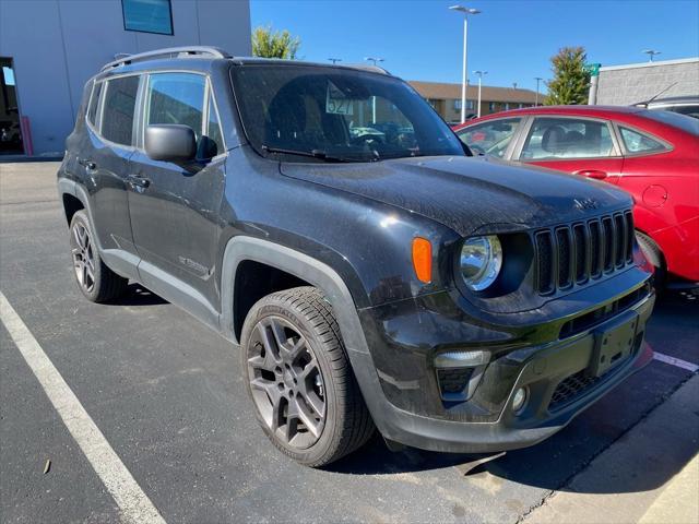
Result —
<svg viewBox="0 0 699 524"><path fill-rule="evenodd" d="M319 467L369 440L374 421L352 372L332 307L318 289L296 287L262 298L250 309L240 341L248 394L260 426L280 451L300 464ZM273 396L281 406L276 410ZM318 401L323 408L313 412L311 404ZM296 415L301 412L307 420L309 414L313 417L308 426ZM279 419L274 419L275 413ZM284 421L284 425L274 422ZM318 436L311 427L321 427Z"/></svg>

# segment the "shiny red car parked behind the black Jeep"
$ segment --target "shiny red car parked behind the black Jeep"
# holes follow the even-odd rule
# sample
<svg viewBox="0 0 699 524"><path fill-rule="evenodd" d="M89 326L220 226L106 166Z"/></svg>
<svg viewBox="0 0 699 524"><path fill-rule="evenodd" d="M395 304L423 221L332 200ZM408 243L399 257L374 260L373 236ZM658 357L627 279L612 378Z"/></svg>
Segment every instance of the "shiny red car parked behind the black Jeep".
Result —
<svg viewBox="0 0 699 524"><path fill-rule="evenodd" d="M474 153L626 189L657 282L699 287L699 120L639 107L547 106L488 115L454 131Z"/></svg>

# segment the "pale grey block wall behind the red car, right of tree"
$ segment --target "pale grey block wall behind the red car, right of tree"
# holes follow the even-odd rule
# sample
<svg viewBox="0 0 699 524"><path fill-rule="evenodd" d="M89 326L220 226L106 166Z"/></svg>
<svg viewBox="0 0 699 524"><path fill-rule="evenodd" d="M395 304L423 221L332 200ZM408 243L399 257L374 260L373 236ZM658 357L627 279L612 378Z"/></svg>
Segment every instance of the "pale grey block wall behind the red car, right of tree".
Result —
<svg viewBox="0 0 699 524"><path fill-rule="evenodd" d="M661 97L699 95L699 58L600 68L597 104L628 106L667 87Z"/></svg>

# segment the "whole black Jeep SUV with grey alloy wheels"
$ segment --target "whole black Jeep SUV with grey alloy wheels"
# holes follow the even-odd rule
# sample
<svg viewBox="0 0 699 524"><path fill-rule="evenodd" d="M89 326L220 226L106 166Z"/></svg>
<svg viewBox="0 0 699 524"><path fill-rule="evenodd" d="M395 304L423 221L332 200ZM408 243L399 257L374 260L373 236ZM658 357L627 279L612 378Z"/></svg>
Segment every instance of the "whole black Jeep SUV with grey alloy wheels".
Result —
<svg viewBox="0 0 699 524"><path fill-rule="evenodd" d="M534 444L651 358L631 199L472 157L377 68L165 49L91 79L58 172L75 275L240 346L271 441Z"/></svg>

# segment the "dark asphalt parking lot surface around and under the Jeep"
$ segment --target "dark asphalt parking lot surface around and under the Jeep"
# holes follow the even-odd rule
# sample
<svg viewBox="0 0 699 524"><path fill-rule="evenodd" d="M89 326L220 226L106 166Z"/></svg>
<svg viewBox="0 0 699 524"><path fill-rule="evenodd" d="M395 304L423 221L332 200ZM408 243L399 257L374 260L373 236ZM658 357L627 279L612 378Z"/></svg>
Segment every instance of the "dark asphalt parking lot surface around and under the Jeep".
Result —
<svg viewBox="0 0 699 524"><path fill-rule="evenodd" d="M134 285L118 305L82 297L56 169L0 164L0 290L167 522L518 522L692 376L654 360L554 438L484 464L391 453L375 438L340 463L308 469L257 427L235 347ZM699 300L667 294L648 341L697 364L698 319ZM0 347L0 520L119 522L2 324ZM613 489L651 489L667 474Z"/></svg>

